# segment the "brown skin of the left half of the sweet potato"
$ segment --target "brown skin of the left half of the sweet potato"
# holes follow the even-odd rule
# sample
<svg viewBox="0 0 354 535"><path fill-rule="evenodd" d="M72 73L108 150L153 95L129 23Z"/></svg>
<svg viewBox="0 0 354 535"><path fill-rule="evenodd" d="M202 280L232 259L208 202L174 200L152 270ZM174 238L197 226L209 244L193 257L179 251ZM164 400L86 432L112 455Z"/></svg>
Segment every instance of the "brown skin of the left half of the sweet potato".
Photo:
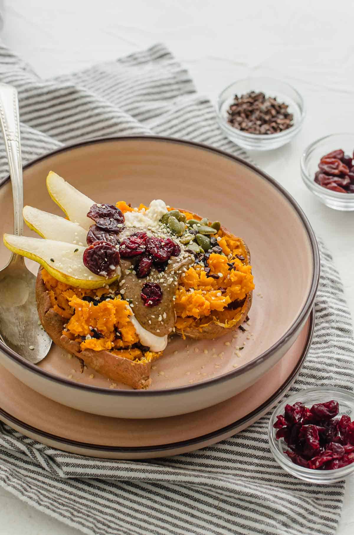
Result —
<svg viewBox="0 0 354 535"><path fill-rule="evenodd" d="M36 280L37 310L44 330L53 342L68 353L81 358L85 364L113 381L124 383L136 389L148 388L151 384L150 362L132 362L127 358L103 350L85 349L81 351L79 342L70 340L63 334L66 320L53 310L41 271L42 268L40 268Z"/></svg>

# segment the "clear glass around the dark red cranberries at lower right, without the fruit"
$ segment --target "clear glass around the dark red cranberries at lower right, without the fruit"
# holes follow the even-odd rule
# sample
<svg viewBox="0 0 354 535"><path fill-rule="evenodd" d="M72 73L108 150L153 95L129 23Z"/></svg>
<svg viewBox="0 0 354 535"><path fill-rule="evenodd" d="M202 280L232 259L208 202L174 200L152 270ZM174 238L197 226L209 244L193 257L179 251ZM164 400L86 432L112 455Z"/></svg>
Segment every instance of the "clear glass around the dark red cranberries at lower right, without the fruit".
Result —
<svg viewBox="0 0 354 535"><path fill-rule="evenodd" d="M310 408L314 403L323 403L325 401L335 400L339 404L338 417L347 414L351 419L354 417L354 394L348 392L344 388L319 387L307 388L301 392L297 392L289 398L284 399L272 414L268 426L268 440L271 452L275 460L280 466L289 472L292 476L298 477L310 483L318 483L320 485L330 485L337 481L341 481L354 472L354 463L348 464L347 467L336 468L334 470L312 470L311 468L300 467L294 464L293 461L284 453L288 446L284 439L276 440L273 424L276 422L276 417L284 414L284 408L287 403L293 405L296 401L302 401L305 407Z"/></svg>

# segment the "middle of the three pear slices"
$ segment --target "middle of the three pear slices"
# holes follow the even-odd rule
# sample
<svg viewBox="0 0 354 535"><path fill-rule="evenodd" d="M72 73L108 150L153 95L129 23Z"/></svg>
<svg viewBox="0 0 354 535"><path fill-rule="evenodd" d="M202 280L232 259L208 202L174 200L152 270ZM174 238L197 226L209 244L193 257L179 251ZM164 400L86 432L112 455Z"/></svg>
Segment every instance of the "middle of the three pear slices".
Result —
<svg viewBox="0 0 354 535"><path fill-rule="evenodd" d="M87 231L64 217L55 216L53 213L44 212L32 206L25 206L22 215L30 230L35 231L42 238L86 246Z"/></svg>

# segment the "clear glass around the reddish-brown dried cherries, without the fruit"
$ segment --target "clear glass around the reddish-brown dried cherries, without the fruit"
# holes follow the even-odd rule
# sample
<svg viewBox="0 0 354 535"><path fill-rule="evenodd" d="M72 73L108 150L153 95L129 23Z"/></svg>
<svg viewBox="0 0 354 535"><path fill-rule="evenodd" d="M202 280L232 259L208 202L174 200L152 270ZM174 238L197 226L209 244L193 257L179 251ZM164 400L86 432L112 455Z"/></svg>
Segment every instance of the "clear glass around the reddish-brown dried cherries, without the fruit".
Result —
<svg viewBox="0 0 354 535"><path fill-rule="evenodd" d="M314 181L321 157L336 149L343 149L345 154L353 154L354 133L330 134L311 143L301 157L301 177L310 192L326 206L334 210L351 211L354 210L354 193L333 192Z"/></svg>

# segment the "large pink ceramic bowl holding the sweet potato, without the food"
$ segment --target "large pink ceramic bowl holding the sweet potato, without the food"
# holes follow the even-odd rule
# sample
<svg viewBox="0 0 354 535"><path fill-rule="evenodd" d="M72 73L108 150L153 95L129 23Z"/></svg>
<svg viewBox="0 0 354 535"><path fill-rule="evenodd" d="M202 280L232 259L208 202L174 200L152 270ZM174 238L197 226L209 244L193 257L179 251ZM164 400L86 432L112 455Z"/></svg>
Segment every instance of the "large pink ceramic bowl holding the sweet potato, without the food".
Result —
<svg viewBox="0 0 354 535"><path fill-rule="evenodd" d="M96 202L126 200L135 206L163 198L171 206L220 220L248 244L256 289L245 332L218 340L172 339L146 391L114 384L89 369L81 375L76 358L54 345L33 365L0 342L0 363L23 383L54 401L99 415L172 416L244 391L297 339L317 290L318 247L302 210L268 175L240 158L187 141L149 136L87 141L24 169L25 204L58 214L45 188L50 170ZM2 233L12 232L12 221L7 181L0 188ZM5 264L9 251L2 246L1 252ZM37 264L28 265L37 271Z"/></svg>

